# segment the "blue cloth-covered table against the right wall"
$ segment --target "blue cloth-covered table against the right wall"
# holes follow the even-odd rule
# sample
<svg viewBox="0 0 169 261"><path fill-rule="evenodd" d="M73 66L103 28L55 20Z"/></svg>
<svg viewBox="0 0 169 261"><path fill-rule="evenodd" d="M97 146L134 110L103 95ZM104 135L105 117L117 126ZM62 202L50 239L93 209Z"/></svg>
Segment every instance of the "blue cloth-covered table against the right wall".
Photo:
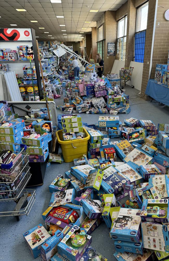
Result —
<svg viewBox="0 0 169 261"><path fill-rule="evenodd" d="M154 79L149 79L145 94L169 106L169 88L155 83Z"/></svg>

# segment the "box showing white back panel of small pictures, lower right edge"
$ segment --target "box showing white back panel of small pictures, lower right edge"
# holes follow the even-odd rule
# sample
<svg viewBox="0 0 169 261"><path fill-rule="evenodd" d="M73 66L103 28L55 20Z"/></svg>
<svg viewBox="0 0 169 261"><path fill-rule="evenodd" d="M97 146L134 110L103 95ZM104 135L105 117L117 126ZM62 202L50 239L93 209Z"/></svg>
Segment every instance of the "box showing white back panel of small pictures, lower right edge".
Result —
<svg viewBox="0 0 169 261"><path fill-rule="evenodd" d="M169 252L167 224L162 225L156 222L141 222L143 247Z"/></svg>

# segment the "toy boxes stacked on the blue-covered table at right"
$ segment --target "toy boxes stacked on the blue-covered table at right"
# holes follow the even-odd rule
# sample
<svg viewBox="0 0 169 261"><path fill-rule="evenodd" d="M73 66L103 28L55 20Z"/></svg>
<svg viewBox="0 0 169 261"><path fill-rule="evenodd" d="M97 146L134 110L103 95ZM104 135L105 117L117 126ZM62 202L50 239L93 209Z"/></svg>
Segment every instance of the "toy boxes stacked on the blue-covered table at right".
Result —
<svg viewBox="0 0 169 261"><path fill-rule="evenodd" d="M157 64L154 81L164 87L169 88L169 64Z"/></svg>

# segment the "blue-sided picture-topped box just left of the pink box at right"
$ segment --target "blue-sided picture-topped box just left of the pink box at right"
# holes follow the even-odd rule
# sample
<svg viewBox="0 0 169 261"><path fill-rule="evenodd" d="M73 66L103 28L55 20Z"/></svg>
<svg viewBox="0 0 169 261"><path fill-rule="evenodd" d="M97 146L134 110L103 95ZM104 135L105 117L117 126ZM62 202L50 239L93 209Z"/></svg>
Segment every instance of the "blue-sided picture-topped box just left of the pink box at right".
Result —
<svg viewBox="0 0 169 261"><path fill-rule="evenodd" d="M150 175L161 175L161 171L154 164L141 165L139 173L145 180L148 180Z"/></svg>

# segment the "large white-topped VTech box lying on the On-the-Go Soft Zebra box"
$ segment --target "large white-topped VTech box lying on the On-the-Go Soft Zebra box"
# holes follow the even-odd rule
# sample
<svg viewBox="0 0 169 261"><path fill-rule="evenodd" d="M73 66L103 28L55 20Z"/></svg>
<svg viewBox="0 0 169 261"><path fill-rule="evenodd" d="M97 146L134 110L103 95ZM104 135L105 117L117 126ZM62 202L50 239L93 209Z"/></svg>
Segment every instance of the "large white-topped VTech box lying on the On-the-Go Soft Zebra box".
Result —
<svg viewBox="0 0 169 261"><path fill-rule="evenodd" d="M113 240L139 242L141 210L121 208L110 231Z"/></svg>

